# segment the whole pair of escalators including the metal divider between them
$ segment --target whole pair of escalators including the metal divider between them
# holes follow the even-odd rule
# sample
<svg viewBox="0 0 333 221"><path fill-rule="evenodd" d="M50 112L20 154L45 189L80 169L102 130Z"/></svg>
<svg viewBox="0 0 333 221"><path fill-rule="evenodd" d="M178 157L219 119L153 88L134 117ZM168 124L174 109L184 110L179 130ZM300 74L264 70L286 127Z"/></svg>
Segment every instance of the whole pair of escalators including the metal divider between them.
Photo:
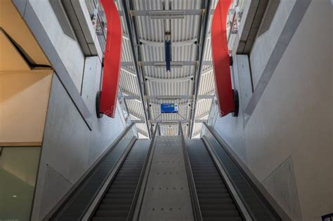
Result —
<svg viewBox="0 0 333 221"><path fill-rule="evenodd" d="M133 125L44 220L289 220L214 128L140 140Z"/></svg>

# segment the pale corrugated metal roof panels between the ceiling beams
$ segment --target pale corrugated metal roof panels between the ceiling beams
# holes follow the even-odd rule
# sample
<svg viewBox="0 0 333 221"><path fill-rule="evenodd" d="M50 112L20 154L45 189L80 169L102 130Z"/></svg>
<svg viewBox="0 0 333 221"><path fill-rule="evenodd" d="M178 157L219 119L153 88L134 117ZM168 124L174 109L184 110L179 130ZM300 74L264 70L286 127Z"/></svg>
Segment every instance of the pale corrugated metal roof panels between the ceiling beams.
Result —
<svg viewBox="0 0 333 221"><path fill-rule="evenodd" d="M162 0L129 0L132 1L133 9L136 11L162 10ZM171 2L172 10L201 10L202 0L166 0ZM115 1L119 11L123 11L121 0ZM212 1L211 8L215 8L217 0ZM209 16L211 17L211 15ZM188 95L192 96L194 81L193 76L197 69L197 38L200 29L202 16L185 15L183 19L171 20L171 54L172 61L190 61L193 65L182 67L171 67L171 72L166 72L165 67L155 67L153 65L140 66L145 77L145 96L165 96L165 95ZM151 19L150 16L136 16L136 35L140 41L138 46L141 60L140 62L160 62L164 58L164 21L162 19ZM209 18L209 29L211 18ZM122 28L124 32L122 43L122 62L133 62L131 55L131 44L127 32L126 22L122 16ZM207 34L206 46L202 60L211 61L210 35ZM204 63L207 64L207 63ZM214 74L211 65L203 65L200 85L197 89L198 95L214 95ZM138 74L132 66L122 67L120 88L124 95L140 96L138 87ZM146 98L145 98L146 99ZM190 119L192 100L189 99L148 99L149 121L164 121L160 123L162 134L178 134L178 124L167 123L168 121L193 121ZM212 99L203 99L194 102L196 105L195 116L198 120L208 119ZM145 111L141 101L136 99L125 99L133 121L144 121ZM161 114L160 104L178 103L179 114ZM193 137L200 134L202 123L194 123L192 129ZM136 123L140 138L148 137L148 130L145 123ZM183 123L184 133L189 133L189 123Z"/></svg>

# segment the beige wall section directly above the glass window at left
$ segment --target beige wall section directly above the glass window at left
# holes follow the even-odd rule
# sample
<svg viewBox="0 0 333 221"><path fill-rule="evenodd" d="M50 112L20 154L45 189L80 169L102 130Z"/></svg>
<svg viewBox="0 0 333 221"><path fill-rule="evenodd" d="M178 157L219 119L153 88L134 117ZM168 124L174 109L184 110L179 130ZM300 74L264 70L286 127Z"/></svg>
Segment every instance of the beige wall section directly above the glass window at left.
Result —
<svg viewBox="0 0 333 221"><path fill-rule="evenodd" d="M41 143L52 72L0 72L0 145Z"/></svg>

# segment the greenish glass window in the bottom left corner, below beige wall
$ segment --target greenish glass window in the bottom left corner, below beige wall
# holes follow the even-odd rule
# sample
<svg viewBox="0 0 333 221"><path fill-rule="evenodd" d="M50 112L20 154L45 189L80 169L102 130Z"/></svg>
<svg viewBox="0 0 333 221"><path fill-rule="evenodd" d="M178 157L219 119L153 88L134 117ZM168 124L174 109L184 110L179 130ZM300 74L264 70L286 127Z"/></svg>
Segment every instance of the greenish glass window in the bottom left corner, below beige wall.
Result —
<svg viewBox="0 0 333 221"><path fill-rule="evenodd" d="M0 220L30 220L41 147L0 147Z"/></svg>

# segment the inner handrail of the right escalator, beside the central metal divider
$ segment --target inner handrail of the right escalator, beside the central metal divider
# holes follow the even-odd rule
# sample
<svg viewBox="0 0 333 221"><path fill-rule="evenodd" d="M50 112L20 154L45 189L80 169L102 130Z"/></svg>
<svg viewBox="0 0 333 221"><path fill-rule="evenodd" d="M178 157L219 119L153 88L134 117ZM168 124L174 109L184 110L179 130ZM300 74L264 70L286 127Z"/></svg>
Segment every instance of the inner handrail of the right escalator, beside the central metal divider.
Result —
<svg viewBox="0 0 333 221"><path fill-rule="evenodd" d="M183 154L184 154L186 174L188 175L188 186L190 189L193 216L195 218L195 221L202 221L202 214L201 214L201 210L200 210L199 199L197 198L197 190L195 187L195 181L193 178L192 168L191 168L191 164L190 164L190 156L188 156L188 149L185 144L185 138L184 138L184 134L183 134L183 128L181 127L181 122L179 122L179 134L181 135L181 144L182 144L182 149L183 149Z"/></svg>

